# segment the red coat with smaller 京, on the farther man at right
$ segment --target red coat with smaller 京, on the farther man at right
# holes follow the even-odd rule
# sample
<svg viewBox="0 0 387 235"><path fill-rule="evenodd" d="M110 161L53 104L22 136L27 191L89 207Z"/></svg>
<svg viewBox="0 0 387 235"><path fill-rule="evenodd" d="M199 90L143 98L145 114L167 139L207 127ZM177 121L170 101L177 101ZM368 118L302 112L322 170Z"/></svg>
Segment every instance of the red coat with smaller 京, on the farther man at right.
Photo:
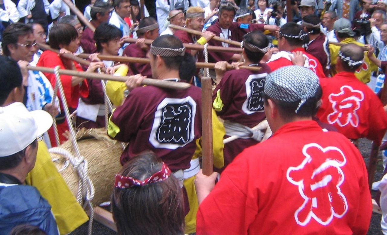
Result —
<svg viewBox="0 0 387 235"><path fill-rule="evenodd" d="M380 144L387 129L382 102L351 72L320 79L322 105L317 117L348 139L368 138Z"/></svg>

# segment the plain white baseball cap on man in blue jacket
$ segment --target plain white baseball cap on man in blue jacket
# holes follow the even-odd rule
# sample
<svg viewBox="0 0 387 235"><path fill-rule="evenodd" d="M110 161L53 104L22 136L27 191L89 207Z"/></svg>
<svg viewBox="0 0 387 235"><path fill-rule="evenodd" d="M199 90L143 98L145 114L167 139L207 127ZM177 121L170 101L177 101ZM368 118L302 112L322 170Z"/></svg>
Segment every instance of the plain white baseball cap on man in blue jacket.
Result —
<svg viewBox="0 0 387 235"><path fill-rule="evenodd" d="M52 123L50 113L28 111L20 102L0 107L0 157L22 151L50 129Z"/></svg>

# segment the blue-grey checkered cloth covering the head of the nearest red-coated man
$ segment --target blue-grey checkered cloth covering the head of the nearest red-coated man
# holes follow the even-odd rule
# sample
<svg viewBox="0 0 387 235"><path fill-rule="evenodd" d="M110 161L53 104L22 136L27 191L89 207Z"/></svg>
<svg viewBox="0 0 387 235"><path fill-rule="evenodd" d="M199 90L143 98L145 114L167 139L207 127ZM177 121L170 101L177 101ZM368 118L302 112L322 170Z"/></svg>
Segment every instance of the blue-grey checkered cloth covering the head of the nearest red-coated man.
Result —
<svg viewBox="0 0 387 235"><path fill-rule="evenodd" d="M264 92L267 96L284 102L300 101L296 113L301 106L315 96L320 86L319 77L312 70L291 65L271 72L266 77Z"/></svg>

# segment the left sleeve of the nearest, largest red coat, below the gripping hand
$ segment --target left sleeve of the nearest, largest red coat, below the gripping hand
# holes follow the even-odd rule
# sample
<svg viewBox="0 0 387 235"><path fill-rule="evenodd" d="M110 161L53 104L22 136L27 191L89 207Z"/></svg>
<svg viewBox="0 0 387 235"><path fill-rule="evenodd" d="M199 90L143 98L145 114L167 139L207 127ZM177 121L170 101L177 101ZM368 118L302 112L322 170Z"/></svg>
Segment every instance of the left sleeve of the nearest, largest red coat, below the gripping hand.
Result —
<svg viewBox="0 0 387 235"><path fill-rule="evenodd" d="M247 198L249 164L246 159L235 159L200 204L197 235L247 235L249 225L258 214L258 200L254 206Z"/></svg>

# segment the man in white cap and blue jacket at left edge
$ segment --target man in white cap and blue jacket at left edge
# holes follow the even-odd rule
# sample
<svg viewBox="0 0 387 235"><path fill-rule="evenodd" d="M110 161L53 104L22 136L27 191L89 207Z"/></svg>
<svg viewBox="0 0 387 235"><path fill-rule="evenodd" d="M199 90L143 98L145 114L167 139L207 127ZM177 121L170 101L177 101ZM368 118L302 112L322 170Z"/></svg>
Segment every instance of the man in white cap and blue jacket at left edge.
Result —
<svg viewBox="0 0 387 235"><path fill-rule="evenodd" d="M28 111L17 102L0 107L0 230L3 234L22 224L59 234L51 206L39 191L23 185L36 162L38 139L52 125L43 110Z"/></svg>

